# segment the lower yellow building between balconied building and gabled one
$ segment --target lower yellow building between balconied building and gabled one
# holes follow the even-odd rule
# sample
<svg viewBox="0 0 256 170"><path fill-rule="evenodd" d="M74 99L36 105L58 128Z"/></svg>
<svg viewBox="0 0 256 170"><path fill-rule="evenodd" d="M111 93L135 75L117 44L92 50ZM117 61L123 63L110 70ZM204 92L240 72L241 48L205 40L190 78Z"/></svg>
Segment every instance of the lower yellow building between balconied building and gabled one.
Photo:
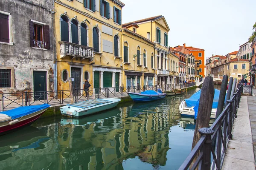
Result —
<svg viewBox="0 0 256 170"><path fill-rule="evenodd" d="M123 86L154 85L155 43L136 33L136 23L123 26Z"/></svg>

